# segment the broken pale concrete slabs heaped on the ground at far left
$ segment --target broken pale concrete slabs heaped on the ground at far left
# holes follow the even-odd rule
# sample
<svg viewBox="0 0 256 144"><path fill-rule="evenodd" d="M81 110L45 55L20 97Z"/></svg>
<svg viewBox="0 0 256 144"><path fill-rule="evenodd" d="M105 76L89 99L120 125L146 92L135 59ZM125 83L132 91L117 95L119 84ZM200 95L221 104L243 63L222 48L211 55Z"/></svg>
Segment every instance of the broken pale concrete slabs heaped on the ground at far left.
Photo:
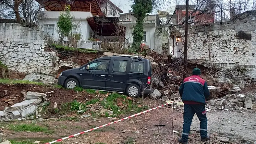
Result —
<svg viewBox="0 0 256 144"><path fill-rule="evenodd" d="M0 121L9 121L10 119L19 119L26 117L34 117L36 114L38 106L41 102L46 102L46 94L38 92L27 92L24 101L16 103L10 107L6 107L4 111L0 111Z"/></svg>

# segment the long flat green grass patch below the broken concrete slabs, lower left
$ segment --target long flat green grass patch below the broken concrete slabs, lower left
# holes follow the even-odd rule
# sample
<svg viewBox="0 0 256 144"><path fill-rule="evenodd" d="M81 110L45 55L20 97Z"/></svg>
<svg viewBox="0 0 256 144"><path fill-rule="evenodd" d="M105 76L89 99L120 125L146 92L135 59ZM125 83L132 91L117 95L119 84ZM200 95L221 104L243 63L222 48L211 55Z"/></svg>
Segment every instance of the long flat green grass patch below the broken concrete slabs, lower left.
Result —
<svg viewBox="0 0 256 144"><path fill-rule="evenodd" d="M51 134L52 131L46 127L34 125L34 124L18 124L18 125L8 125L7 128L12 131L22 132L22 131L30 131L30 132L44 132L46 134Z"/></svg>

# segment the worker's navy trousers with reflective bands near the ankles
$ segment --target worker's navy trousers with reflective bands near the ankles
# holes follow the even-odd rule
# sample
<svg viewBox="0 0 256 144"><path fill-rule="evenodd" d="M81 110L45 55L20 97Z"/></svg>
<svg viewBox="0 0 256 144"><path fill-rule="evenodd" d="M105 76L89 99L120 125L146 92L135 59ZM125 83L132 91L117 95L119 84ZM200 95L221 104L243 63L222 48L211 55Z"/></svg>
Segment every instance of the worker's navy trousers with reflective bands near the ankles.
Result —
<svg viewBox="0 0 256 144"><path fill-rule="evenodd" d="M201 138L204 139L207 136L207 117L206 117L206 110L204 105L184 104L184 115L183 115L184 123L183 123L183 131L182 131L182 140L184 142L188 141L190 126L195 113L200 120Z"/></svg>

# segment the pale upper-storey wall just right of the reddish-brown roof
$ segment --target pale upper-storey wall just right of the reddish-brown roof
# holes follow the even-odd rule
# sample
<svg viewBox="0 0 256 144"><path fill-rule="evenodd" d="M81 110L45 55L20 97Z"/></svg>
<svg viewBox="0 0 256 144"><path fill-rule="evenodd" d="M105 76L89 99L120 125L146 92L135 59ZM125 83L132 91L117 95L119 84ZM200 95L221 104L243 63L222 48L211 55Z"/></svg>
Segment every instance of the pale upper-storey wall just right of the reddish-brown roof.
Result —
<svg viewBox="0 0 256 144"><path fill-rule="evenodd" d="M101 11L106 13L107 17L120 18L120 12L114 6L112 6L110 3L101 4Z"/></svg>

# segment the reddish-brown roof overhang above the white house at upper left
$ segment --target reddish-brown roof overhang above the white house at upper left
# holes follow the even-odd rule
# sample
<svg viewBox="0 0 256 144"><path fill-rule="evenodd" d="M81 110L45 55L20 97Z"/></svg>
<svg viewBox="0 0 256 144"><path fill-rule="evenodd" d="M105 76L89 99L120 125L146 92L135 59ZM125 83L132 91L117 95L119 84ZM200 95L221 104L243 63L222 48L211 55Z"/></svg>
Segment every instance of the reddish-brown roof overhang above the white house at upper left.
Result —
<svg viewBox="0 0 256 144"><path fill-rule="evenodd" d="M36 0L47 11L62 11L65 9L66 0ZM96 16L103 16L97 0L74 0L70 4L71 11L90 12Z"/></svg>

